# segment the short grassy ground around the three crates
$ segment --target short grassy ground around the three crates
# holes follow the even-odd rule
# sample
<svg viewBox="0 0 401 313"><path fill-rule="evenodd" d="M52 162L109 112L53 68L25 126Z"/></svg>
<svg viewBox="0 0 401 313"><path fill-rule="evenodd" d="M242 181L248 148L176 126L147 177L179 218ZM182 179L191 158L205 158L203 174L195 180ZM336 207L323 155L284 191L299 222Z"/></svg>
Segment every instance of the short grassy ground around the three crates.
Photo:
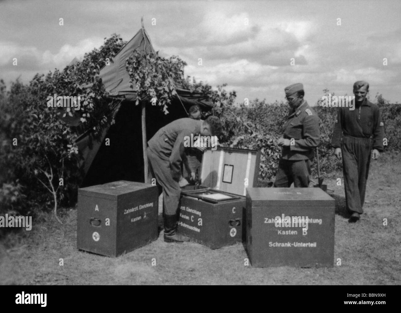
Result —
<svg viewBox="0 0 401 313"><path fill-rule="evenodd" d="M43 214L31 231L8 233L0 243L0 284L18 285L399 285L401 284L401 157L371 163L365 214L348 223L344 187L333 173L324 183L336 199L334 267L253 268L244 245L211 250L197 243L158 240L117 258L78 251L77 211L59 225ZM383 225L387 219L387 226ZM60 266L59 259L64 265ZM340 258L341 265L336 265ZM156 259L156 265L152 265Z"/></svg>

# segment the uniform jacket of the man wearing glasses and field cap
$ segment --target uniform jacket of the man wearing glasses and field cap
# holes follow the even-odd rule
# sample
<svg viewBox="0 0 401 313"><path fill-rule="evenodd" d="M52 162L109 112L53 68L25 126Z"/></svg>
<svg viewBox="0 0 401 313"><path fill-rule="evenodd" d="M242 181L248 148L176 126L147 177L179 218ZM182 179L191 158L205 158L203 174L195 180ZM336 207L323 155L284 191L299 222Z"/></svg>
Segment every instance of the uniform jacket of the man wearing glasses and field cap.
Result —
<svg viewBox="0 0 401 313"><path fill-rule="evenodd" d="M314 110L304 102L298 108L292 109L284 124L285 139L292 139L290 146L283 146L282 159L312 160L314 148L320 143L319 118Z"/></svg>

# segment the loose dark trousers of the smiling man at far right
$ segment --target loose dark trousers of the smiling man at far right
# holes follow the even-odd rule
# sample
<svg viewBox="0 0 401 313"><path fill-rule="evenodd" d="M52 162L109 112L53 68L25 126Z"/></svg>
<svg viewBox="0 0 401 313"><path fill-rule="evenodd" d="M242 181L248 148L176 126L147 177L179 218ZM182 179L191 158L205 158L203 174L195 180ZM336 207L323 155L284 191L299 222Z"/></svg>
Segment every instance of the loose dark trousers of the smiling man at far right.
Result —
<svg viewBox="0 0 401 313"><path fill-rule="evenodd" d="M363 213L365 202L366 182L371 163L371 140L343 136L341 144L342 173L346 208L349 213Z"/></svg>

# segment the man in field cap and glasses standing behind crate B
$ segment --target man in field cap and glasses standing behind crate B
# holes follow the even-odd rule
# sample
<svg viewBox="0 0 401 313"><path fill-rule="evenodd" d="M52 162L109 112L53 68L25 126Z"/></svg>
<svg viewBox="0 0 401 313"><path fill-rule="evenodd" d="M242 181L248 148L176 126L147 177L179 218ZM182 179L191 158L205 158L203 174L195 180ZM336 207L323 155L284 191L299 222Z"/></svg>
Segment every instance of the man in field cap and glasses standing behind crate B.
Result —
<svg viewBox="0 0 401 313"><path fill-rule="evenodd" d="M314 148L320 142L319 118L304 100L300 83L284 88L291 110L284 124L284 134L277 141L282 146L274 187L308 187Z"/></svg>

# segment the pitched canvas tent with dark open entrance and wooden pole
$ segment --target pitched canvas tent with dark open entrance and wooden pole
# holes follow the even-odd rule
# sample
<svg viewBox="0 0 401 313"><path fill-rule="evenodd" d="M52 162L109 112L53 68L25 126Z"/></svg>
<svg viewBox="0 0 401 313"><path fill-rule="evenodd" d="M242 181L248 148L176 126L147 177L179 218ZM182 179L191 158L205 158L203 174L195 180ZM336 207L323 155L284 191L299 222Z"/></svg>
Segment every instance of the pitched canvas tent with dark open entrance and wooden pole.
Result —
<svg viewBox="0 0 401 313"><path fill-rule="evenodd" d="M164 114L159 106L150 105L150 102L141 101L141 105L136 105L135 86L130 88L130 77L125 67L127 58L135 50L141 53L154 52L143 27L113 57L111 64L99 72L110 96L124 98L124 101L113 112L115 124L103 130L99 142L93 140L90 131L77 139L78 149L84 158L81 187L117 180L146 181L146 142L160 127L186 117L190 106L198 104L203 110L212 107L205 95L191 93L180 86L176 86L178 95L172 99L168 114ZM109 145L105 144L106 138L109 139Z"/></svg>

